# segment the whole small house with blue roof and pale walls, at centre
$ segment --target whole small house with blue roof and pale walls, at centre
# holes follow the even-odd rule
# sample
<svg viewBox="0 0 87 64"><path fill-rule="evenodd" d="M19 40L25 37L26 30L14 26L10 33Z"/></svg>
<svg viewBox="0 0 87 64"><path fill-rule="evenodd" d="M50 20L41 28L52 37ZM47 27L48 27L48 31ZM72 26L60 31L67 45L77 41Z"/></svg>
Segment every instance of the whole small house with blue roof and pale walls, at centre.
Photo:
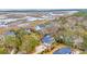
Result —
<svg viewBox="0 0 87 64"><path fill-rule="evenodd" d="M55 41L55 39L53 37L51 37L50 35L44 36L42 39L42 42L45 46L51 46L54 41Z"/></svg>

